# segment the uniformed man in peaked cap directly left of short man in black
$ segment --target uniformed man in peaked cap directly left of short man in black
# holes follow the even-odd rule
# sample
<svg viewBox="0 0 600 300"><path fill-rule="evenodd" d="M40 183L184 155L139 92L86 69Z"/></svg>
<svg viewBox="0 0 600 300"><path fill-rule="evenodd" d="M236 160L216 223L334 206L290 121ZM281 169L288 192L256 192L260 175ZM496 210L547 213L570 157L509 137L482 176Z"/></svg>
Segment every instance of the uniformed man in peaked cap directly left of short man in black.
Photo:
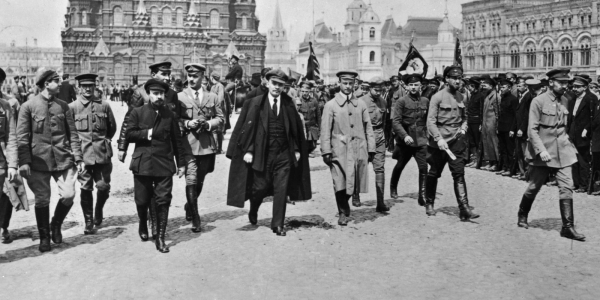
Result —
<svg viewBox="0 0 600 300"><path fill-rule="evenodd" d="M100 226L104 217L103 209L110 194L110 174L112 173L111 140L117 132L117 123L108 102L94 96L96 74L82 74L75 77L79 81L81 93L77 100L69 104L75 119L77 135L81 140L85 168L77 179L81 184L81 210L85 220L85 234L94 233L94 225ZM96 213L94 215L94 182Z"/></svg>

